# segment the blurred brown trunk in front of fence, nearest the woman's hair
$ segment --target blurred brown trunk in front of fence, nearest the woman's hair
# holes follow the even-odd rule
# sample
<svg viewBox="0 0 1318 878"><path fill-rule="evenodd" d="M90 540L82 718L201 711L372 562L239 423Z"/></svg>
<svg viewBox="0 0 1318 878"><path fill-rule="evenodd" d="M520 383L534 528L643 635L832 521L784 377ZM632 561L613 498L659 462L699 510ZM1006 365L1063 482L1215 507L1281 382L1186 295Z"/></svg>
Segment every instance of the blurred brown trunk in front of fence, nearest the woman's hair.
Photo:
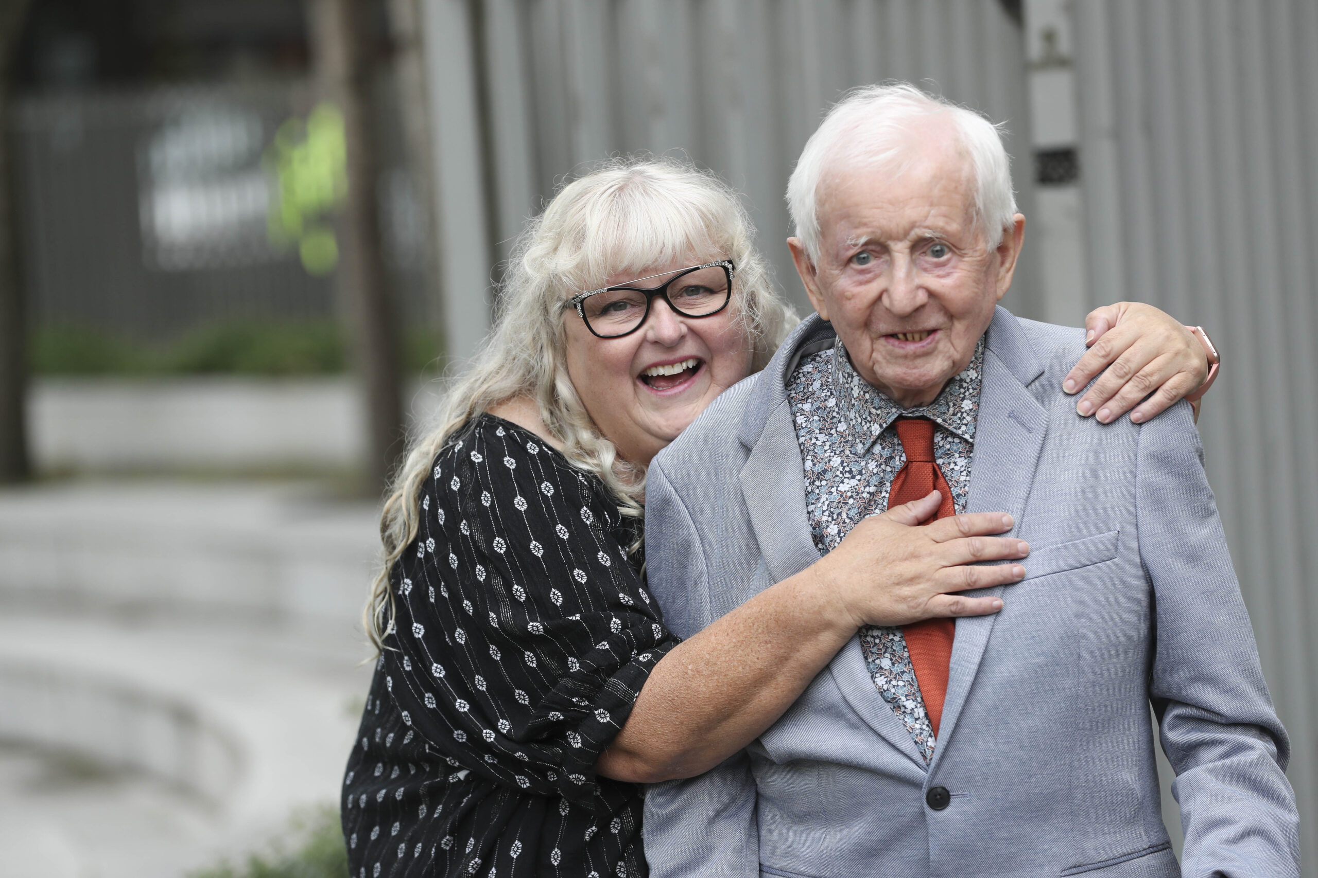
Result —
<svg viewBox="0 0 1318 878"><path fill-rule="evenodd" d="M340 284L369 415L370 488L382 490L403 450L398 326L382 258L378 165L370 117L366 0L307 0L311 53L324 97L344 118L348 197L339 215Z"/></svg>

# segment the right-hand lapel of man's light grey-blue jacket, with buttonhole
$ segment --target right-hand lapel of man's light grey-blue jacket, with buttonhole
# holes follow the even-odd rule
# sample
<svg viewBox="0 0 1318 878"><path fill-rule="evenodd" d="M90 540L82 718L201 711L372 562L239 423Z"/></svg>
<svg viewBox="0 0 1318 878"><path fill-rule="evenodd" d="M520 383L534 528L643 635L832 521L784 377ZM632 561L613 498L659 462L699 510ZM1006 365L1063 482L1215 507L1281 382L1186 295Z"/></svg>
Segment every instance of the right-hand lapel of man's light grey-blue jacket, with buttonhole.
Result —
<svg viewBox="0 0 1318 878"><path fill-rule="evenodd" d="M1024 519L1035 467L1048 432L1048 412L1027 390L1043 373L1020 324L1010 312L998 308L985 351L966 511L1010 513L1016 523L1012 536ZM1025 563L1029 563L1028 558ZM998 586L971 594L1000 596L1003 588ZM957 620L934 763L952 740L996 619L994 613Z"/></svg>

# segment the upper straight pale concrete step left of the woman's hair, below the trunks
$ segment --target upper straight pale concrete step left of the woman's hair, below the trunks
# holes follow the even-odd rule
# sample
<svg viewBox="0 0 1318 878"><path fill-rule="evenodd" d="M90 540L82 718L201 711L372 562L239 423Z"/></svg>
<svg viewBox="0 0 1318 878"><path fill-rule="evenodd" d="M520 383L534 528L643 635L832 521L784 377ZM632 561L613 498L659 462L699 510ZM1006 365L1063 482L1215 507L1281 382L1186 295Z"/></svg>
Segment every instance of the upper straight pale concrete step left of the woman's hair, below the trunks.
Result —
<svg viewBox="0 0 1318 878"><path fill-rule="evenodd" d="M0 600L352 624L378 508L312 484L75 482L0 492Z"/></svg>

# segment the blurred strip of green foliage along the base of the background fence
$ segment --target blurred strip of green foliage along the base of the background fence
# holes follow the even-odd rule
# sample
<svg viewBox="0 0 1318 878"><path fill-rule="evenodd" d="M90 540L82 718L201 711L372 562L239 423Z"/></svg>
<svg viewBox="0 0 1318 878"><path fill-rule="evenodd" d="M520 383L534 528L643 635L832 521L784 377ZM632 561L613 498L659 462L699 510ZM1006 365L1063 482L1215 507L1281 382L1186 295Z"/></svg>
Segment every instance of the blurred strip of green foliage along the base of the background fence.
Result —
<svg viewBox="0 0 1318 878"><path fill-rule="evenodd" d="M413 328L403 367L424 371L439 357L436 333ZM351 365L333 321L212 324L170 342L146 345L82 326L42 326L30 338L37 375L333 375Z"/></svg>

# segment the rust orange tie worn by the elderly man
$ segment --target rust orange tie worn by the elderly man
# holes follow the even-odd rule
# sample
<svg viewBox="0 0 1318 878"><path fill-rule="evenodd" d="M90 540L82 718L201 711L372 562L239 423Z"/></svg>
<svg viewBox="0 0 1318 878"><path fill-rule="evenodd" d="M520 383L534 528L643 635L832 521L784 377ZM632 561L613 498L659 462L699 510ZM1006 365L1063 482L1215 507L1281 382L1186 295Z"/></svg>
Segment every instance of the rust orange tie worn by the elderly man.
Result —
<svg viewBox="0 0 1318 878"><path fill-rule="evenodd" d="M948 487L948 479L942 477L942 470L933 459L933 421L928 417L899 417L896 429L898 438L902 440L902 449L907 455L907 465L892 479L892 488L888 491L888 508L919 500L929 491L937 491L942 495L942 503L938 504L937 513L929 520L956 515L957 509L952 504L952 488ZM953 619L927 619L902 628L934 737L938 737L942 702L948 696L952 638L956 631L957 623Z"/></svg>

